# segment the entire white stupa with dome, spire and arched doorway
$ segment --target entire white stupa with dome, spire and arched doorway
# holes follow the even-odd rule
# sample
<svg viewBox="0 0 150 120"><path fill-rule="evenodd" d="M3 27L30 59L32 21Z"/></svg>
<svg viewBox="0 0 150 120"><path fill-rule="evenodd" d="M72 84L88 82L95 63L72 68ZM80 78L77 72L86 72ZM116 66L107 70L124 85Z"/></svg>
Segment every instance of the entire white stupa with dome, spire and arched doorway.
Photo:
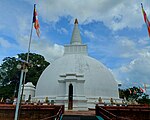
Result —
<svg viewBox="0 0 150 120"><path fill-rule="evenodd" d="M65 109L94 108L101 97L119 99L118 84L112 73L99 61L89 57L87 45L82 44L78 21L75 20L71 42L64 46L64 55L51 63L40 76L35 99L46 97Z"/></svg>

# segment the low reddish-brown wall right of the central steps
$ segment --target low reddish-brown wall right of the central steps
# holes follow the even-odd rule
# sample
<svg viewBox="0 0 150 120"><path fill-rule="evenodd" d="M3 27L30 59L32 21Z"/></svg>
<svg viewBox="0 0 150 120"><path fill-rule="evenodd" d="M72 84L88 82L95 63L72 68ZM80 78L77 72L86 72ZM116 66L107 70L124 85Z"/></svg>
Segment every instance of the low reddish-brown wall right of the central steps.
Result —
<svg viewBox="0 0 150 120"><path fill-rule="evenodd" d="M106 112L106 111L108 112ZM150 106L130 105L130 106L96 106L97 115L111 116L116 119L127 120L150 120ZM112 114L112 115L111 115Z"/></svg>

